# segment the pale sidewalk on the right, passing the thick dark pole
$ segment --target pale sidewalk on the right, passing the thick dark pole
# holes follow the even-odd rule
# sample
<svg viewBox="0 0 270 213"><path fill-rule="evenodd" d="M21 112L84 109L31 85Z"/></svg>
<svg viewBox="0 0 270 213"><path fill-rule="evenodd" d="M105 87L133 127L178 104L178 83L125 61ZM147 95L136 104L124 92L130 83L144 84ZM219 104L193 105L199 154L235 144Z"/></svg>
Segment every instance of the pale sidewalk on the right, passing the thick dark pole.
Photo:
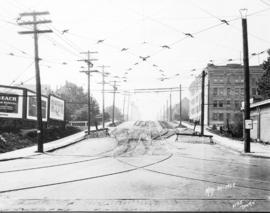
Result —
<svg viewBox="0 0 270 213"><path fill-rule="evenodd" d="M182 122L188 128L193 129L193 125L190 125L186 122ZM196 127L196 131L200 131L200 126ZM261 143L250 143L250 153L244 153L244 142L240 140L235 140L227 137L223 137L212 132L209 132L207 129L204 130L205 134L213 135L213 141L219 145L222 145L228 149L236 151L244 156L260 157L260 158L269 158L270 159L270 145L264 145Z"/></svg>

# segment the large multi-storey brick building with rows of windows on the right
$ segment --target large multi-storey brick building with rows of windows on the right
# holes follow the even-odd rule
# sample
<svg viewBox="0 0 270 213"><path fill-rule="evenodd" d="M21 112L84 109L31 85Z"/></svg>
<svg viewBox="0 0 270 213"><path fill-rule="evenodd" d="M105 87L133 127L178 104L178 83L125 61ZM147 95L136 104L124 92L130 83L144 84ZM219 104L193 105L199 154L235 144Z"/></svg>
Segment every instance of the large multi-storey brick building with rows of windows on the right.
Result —
<svg viewBox="0 0 270 213"><path fill-rule="evenodd" d="M257 82L263 74L261 66L250 66L250 97L257 96ZM205 68L205 124L224 126L233 122L233 117L241 113L244 100L244 70L240 64L216 66L208 64ZM190 111L192 121L201 117L201 75L189 86Z"/></svg>

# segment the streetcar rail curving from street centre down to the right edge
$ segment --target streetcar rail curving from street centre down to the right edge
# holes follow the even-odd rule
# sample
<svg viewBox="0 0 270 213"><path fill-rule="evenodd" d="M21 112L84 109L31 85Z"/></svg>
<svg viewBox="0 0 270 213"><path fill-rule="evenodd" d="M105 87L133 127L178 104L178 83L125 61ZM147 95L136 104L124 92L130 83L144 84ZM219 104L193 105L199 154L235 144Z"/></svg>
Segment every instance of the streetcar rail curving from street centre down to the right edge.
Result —
<svg viewBox="0 0 270 213"><path fill-rule="evenodd" d="M140 167L137 167L136 165L133 165L133 164L128 163L128 162L125 162L123 160L119 160L119 159L117 159L117 160L119 162L122 162L123 164L129 165L129 166L133 166L135 168L143 169L145 171L149 171L149 172L153 172L153 173L157 173L157 174L162 174L162 175L166 175L166 176L178 177L178 178L182 178L182 179L195 180L195 181L206 182L206 183L214 183L214 184L220 184L220 185L227 185L228 184L228 183L219 182L219 181L211 181L211 180L206 180L206 179L200 179L200 178L188 177L188 176L183 176L183 175L176 175L176 174L167 173L167 172L161 172L161 171L157 171L157 170L153 170L153 169L140 168ZM235 186L236 187L239 187L239 188L255 189L255 190L261 190L261 191L270 192L270 189L263 189L263 188L250 187L250 186L242 186L242 185L238 185L238 184L235 184Z"/></svg>

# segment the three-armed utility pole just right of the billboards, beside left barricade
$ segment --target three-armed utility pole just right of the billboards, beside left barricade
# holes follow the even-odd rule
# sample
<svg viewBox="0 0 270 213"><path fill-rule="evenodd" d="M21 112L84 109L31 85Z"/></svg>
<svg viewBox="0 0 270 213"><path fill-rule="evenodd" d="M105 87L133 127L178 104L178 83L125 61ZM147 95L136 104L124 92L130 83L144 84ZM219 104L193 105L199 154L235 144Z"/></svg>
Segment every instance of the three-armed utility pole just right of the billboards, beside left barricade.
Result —
<svg viewBox="0 0 270 213"><path fill-rule="evenodd" d="M87 70L83 70L80 72L84 72L87 74L87 84L88 84L88 89L87 89L87 100L88 100L88 122L87 122L87 134L90 135L90 125L91 125L91 100L90 100L90 73L92 72L98 72L97 70L90 70L90 68L93 67L93 64L91 63L91 61L96 61L97 59L91 59L90 58L90 54L95 54L97 52L90 52L89 50L87 52L81 52L81 54L86 54L87 58L86 59L80 59L78 61L83 61L87 64Z"/></svg>

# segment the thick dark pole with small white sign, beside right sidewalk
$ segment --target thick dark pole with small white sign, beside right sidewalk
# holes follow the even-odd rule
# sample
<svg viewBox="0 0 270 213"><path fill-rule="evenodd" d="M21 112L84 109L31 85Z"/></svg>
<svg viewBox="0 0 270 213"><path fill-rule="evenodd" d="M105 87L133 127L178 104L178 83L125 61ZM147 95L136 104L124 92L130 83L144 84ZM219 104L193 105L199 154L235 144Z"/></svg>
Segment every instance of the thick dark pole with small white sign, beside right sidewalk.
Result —
<svg viewBox="0 0 270 213"><path fill-rule="evenodd" d="M242 16L242 30L243 30L243 62L244 62L244 88L245 88L245 120L244 120L244 127L245 127L245 143L244 143L244 152L250 152L250 129L247 127L247 122L250 121L250 95L249 95L249 58L248 58L248 33L247 33L247 17L246 13L247 10L243 9L240 10Z"/></svg>

